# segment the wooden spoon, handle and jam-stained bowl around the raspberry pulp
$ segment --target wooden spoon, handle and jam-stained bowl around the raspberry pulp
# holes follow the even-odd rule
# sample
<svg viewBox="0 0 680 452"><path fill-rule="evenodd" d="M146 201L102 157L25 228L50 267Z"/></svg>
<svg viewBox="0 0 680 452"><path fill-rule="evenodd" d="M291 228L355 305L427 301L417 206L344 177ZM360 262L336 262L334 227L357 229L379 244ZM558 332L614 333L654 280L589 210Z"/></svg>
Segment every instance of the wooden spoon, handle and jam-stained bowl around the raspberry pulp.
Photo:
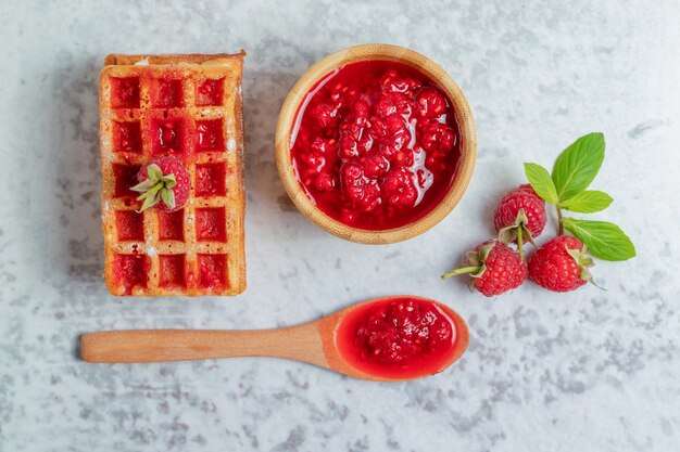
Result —
<svg viewBox="0 0 680 452"><path fill-rule="evenodd" d="M453 346L444 361L436 369L405 373L380 373L362 370L342 347L338 332L351 313L357 313L370 304L398 299L415 299L435 304L449 317L454 331ZM351 318L351 315L350 315ZM377 298L351 306L315 322L297 326L252 331L182 331L139 330L87 333L80 339L80 354L91 363L142 363L215 358L274 357L302 361L326 367L344 375L373 380L406 380L425 377L453 364L468 345L468 330L463 319L451 308L437 301L394 296Z"/></svg>

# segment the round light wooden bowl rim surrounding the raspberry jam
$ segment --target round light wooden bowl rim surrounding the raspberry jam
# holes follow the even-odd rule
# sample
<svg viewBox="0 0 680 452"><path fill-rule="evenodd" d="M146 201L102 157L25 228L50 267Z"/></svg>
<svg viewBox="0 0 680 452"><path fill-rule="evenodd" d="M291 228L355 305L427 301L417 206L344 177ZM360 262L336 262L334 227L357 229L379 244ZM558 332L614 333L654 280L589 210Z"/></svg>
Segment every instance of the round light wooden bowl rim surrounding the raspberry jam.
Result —
<svg viewBox="0 0 680 452"><path fill-rule="evenodd" d="M387 230L365 230L344 224L324 214L301 186L290 157L290 134L298 108L312 87L328 73L360 61L394 61L406 64L432 79L453 103L461 127L461 157L458 168L449 192L439 205L413 223ZM475 119L461 88L437 63L413 50L389 44L362 44L331 53L315 63L300 77L290 90L276 126L276 163L281 182L298 209L319 228L338 237L366 244L402 242L424 233L439 223L458 204L465 193L475 168L477 135Z"/></svg>

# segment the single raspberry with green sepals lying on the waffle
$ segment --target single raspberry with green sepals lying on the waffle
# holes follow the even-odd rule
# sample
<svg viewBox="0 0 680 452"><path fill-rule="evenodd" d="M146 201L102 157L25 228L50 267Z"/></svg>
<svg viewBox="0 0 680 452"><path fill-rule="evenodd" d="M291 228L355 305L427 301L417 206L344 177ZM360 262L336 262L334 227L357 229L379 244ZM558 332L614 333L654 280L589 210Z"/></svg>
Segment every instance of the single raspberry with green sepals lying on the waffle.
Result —
<svg viewBox="0 0 680 452"><path fill-rule="evenodd" d="M137 180L140 183L130 190L141 193L137 198L143 199L139 211L151 206L164 211L179 210L189 198L189 172L176 157L154 158L139 170Z"/></svg>

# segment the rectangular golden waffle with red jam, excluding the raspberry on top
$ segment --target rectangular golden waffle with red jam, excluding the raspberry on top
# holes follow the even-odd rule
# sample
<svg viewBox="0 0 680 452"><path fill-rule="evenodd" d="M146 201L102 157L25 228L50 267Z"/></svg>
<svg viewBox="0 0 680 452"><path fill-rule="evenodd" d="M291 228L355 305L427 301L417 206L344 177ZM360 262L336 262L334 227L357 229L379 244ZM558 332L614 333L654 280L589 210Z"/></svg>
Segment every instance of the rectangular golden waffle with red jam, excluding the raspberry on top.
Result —
<svg viewBox="0 0 680 452"><path fill-rule="evenodd" d="M243 56L109 55L99 85L104 279L113 295L245 289ZM139 169L174 155L191 178L182 209L141 214Z"/></svg>

